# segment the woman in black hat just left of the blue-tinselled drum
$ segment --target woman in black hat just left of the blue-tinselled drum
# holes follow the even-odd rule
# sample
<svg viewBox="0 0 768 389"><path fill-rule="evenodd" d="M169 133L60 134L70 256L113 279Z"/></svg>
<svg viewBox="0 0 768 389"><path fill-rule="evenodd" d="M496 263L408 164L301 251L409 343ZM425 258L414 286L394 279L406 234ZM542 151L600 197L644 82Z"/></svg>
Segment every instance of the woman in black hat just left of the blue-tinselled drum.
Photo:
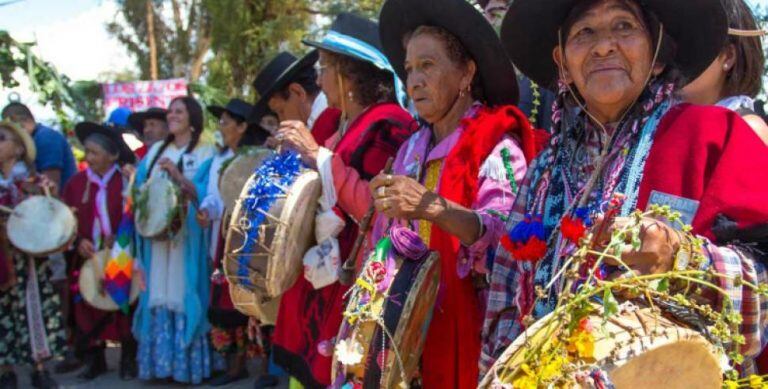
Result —
<svg viewBox="0 0 768 389"><path fill-rule="evenodd" d="M247 355L255 356L256 344L248 339L248 317L235 310L229 296L229 283L221 270L223 238L221 231L225 204L219 192L223 166L235 159L244 148L260 146L269 133L258 125L249 125L246 118L253 105L240 99L232 99L225 107L209 106L208 111L219 119L219 132L224 147L213 157L208 173L208 193L200 202L197 220L202 226L211 226L210 255L214 261L211 276L211 306L208 318L211 322L211 343L214 350L227 358L228 371L215 378L209 385L222 386L248 376L245 368ZM231 210L229 210L231 211Z"/></svg>

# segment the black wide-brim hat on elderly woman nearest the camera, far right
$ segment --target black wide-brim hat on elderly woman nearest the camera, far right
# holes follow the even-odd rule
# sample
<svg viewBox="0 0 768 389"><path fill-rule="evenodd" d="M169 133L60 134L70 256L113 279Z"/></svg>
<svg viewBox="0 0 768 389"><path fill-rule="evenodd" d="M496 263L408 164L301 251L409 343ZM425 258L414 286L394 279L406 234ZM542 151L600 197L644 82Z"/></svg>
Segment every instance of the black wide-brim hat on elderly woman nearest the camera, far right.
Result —
<svg viewBox="0 0 768 389"><path fill-rule="evenodd" d="M501 40L512 62L528 78L554 87L558 78L552 50L558 31L573 7L583 0L515 0L504 17ZM694 80L722 50L728 18L720 0L637 0L650 9L675 41L674 58L683 76ZM565 32L563 32L565 34Z"/></svg>

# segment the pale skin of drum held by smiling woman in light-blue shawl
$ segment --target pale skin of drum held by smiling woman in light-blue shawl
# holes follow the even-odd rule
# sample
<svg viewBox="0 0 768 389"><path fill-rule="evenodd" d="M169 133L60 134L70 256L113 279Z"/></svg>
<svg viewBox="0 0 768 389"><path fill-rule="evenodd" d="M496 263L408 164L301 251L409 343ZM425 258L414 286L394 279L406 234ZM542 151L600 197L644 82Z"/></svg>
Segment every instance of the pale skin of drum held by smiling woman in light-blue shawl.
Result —
<svg viewBox="0 0 768 389"><path fill-rule="evenodd" d="M138 198L144 196L148 196L146 209L136 207L136 231L147 239L170 239L184 220L176 184L164 176L153 176L140 189Z"/></svg>

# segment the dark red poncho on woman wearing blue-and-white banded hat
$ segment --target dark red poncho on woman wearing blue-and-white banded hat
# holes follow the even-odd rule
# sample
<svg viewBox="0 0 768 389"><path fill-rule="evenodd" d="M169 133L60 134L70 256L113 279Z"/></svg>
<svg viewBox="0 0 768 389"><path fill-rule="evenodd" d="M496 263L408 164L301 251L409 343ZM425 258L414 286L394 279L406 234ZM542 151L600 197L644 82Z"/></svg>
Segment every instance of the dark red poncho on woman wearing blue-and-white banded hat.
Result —
<svg viewBox="0 0 768 389"><path fill-rule="evenodd" d="M316 139L338 129L338 120L331 120L333 116L325 115L327 112L312 128ZM338 119L338 113L335 117ZM397 104L374 105L350 124L333 151L363 179L372 177L408 138L412 122ZM346 227L338 236L342 258L349 255L356 237L357 224L347 217ZM274 360L305 387L331 384L332 341L341 326L348 289L337 282L315 290L301 275L280 300L273 335Z"/></svg>

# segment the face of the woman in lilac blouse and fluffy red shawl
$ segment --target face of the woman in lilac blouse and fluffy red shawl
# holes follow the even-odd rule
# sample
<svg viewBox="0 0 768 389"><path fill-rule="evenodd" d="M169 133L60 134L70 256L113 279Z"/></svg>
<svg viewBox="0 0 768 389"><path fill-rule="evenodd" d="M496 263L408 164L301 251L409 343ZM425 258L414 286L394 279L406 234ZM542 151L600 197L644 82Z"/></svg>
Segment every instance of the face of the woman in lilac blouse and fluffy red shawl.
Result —
<svg viewBox="0 0 768 389"><path fill-rule="evenodd" d="M454 63L445 44L432 34L419 34L408 41L405 72L408 96L419 116L429 123L450 111L473 75L467 66Z"/></svg>

